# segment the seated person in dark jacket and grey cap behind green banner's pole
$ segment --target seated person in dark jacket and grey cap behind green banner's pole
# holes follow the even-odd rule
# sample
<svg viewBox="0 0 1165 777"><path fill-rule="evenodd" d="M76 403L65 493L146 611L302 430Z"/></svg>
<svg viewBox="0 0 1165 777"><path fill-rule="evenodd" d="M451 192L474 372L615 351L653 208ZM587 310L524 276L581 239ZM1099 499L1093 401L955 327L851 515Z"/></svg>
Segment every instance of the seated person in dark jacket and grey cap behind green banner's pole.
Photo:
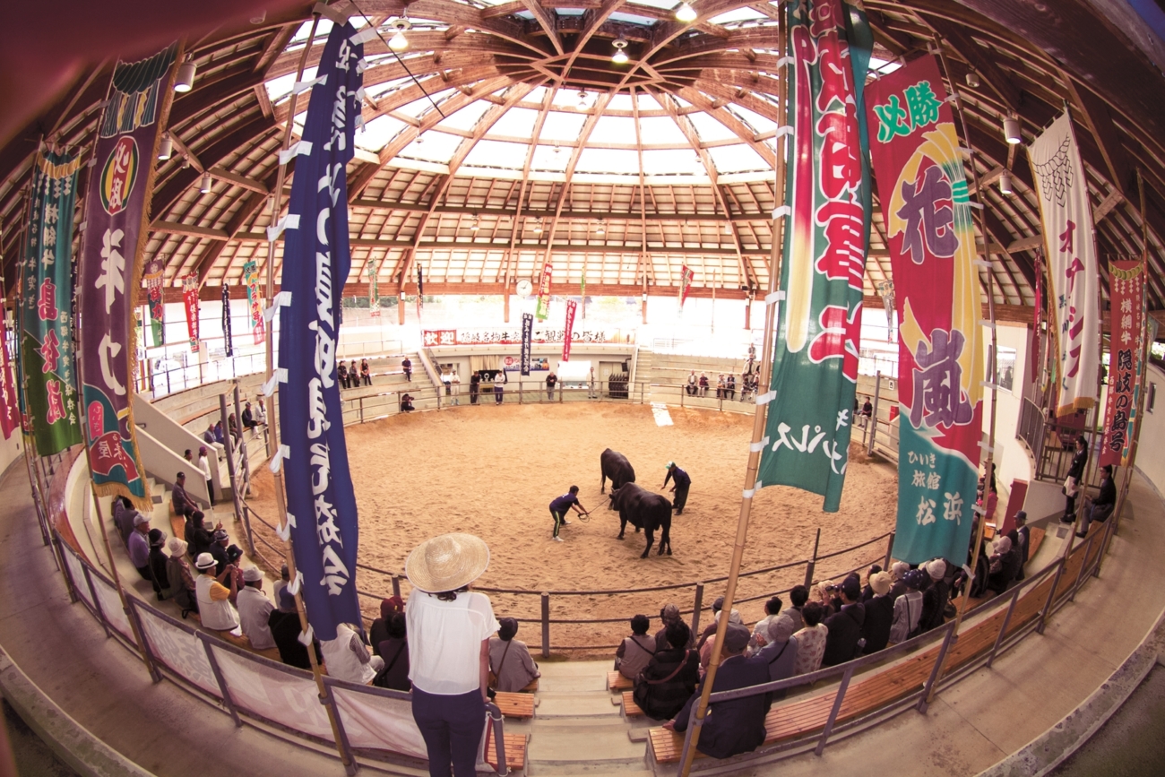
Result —
<svg viewBox="0 0 1165 777"><path fill-rule="evenodd" d="M768 664L760 658L744 657L749 637L747 627L739 623L728 624L728 631L725 634L725 658L712 684L713 691L735 691L769 681ZM664 723L664 728L673 732L686 730L692 715L692 705L699 698L699 693L690 697L679 714ZM741 753L751 753L764 743L765 707L764 693L715 702L708 707L696 749L713 758L730 758Z"/></svg>

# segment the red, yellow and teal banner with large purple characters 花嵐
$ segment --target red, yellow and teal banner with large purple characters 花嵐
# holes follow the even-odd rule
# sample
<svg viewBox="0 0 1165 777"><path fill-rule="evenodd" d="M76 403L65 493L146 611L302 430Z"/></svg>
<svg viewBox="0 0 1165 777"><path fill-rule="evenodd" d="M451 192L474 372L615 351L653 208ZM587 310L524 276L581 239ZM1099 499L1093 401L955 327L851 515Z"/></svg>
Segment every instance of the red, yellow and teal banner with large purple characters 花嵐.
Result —
<svg viewBox="0 0 1165 777"><path fill-rule="evenodd" d="M975 231L959 135L932 56L866 87L898 315L895 558L961 561L983 429Z"/></svg>

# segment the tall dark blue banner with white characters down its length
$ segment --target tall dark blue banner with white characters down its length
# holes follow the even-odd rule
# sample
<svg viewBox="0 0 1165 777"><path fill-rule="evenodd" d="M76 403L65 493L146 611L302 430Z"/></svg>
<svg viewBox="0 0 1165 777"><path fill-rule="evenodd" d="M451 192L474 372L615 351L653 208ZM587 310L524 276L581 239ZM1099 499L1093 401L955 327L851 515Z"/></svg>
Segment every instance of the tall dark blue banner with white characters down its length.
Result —
<svg viewBox="0 0 1165 777"><path fill-rule="evenodd" d="M281 294L291 301L278 309L283 445L273 466L285 458L287 523L320 640L334 640L337 623L361 622L356 500L336 382L340 299L352 267L344 168L353 156L366 66L353 35L351 23L332 27L311 89L283 247Z"/></svg>

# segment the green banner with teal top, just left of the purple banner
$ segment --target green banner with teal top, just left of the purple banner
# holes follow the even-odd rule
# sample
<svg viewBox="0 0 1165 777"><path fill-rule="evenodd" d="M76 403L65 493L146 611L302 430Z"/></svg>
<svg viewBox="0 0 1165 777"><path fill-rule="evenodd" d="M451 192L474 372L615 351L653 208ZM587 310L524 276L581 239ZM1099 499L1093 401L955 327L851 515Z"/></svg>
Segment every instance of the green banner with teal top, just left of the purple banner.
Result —
<svg viewBox="0 0 1165 777"><path fill-rule="evenodd" d="M71 324L72 228L79 167L78 156L41 150L33 169L19 341L23 412L41 455L80 442Z"/></svg>

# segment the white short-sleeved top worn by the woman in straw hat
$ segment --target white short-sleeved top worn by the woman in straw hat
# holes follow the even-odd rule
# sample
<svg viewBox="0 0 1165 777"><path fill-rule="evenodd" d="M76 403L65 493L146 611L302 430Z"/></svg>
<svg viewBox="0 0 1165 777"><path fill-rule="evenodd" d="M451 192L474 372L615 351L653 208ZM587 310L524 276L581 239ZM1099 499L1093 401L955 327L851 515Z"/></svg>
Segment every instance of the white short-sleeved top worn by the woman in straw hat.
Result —
<svg viewBox="0 0 1165 777"><path fill-rule="evenodd" d="M409 679L425 693L457 695L481 687L481 642L500 628L485 594L453 601L415 591L405 608Z"/></svg>

